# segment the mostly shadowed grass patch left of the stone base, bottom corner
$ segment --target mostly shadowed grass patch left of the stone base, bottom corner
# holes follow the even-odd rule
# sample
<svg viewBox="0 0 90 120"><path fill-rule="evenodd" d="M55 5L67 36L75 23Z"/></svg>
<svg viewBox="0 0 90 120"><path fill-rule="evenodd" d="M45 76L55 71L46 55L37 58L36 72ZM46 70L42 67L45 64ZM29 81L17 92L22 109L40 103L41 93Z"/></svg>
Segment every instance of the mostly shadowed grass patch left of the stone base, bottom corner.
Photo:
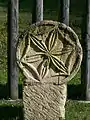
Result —
<svg viewBox="0 0 90 120"><path fill-rule="evenodd" d="M23 105L20 101L0 101L0 120L23 120Z"/></svg>

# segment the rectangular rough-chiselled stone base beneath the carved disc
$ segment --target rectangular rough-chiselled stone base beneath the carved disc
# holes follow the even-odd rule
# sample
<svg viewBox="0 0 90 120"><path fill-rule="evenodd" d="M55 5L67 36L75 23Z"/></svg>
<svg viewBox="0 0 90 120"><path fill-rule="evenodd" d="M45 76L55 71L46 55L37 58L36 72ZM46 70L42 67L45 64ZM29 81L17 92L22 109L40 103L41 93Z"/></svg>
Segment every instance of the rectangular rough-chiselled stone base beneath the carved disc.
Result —
<svg viewBox="0 0 90 120"><path fill-rule="evenodd" d="M25 120L62 120L65 118L67 85L36 84L23 88Z"/></svg>

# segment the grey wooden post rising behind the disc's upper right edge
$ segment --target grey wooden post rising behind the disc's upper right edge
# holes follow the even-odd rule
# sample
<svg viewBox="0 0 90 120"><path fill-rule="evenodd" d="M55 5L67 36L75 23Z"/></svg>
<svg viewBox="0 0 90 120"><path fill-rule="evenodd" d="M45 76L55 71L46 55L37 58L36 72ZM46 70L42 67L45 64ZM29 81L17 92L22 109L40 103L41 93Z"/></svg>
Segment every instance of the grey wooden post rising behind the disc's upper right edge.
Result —
<svg viewBox="0 0 90 120"><path fill-rule="evenodd" d="M59 9L60 9L60 15L59 15L59 21L69 25L69 5L70 0L59 0Z"/></svg>

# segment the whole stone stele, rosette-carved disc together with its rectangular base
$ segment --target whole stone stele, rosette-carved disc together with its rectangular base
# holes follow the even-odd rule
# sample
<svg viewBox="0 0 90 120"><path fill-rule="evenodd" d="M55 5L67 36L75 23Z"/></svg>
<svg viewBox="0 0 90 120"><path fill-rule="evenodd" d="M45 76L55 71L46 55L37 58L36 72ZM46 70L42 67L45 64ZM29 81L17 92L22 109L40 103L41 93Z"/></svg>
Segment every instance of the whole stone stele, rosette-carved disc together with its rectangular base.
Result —
<svg viewBox="0 0 90 120"><path fill-rule="evenodd" d="M75 32L56 21L41 21L24 31L17 63L25 76L25 120L63 120L67 82L78 72L82 48Z"/></svg>

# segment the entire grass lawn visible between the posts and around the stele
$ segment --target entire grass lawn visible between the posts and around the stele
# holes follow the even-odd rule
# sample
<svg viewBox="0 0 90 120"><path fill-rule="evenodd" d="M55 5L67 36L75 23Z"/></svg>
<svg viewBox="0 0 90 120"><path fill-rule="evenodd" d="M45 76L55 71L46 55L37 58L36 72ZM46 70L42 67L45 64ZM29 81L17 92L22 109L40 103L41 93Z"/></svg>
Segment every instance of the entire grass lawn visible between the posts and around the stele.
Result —
<svg viewBox="0 0 90 120"><path fill-rule="evenodd" d="M20 0L19 32L32 22L32 1ZM70 26L81 40L81 22L84 0L71 0ZM44 0L44 19L58 20L58 0ZM22 105L10 103L7 99L7 0L0 0L0 120L23 120ZM20 83L21 78L19 79ZM20 88L20 98L22 85ZM80 71L68 83L68 100L66 103L66 120L90 120L90 104L79 103L82 96ZM3 99L4 98L4 99Z"/></svg>

